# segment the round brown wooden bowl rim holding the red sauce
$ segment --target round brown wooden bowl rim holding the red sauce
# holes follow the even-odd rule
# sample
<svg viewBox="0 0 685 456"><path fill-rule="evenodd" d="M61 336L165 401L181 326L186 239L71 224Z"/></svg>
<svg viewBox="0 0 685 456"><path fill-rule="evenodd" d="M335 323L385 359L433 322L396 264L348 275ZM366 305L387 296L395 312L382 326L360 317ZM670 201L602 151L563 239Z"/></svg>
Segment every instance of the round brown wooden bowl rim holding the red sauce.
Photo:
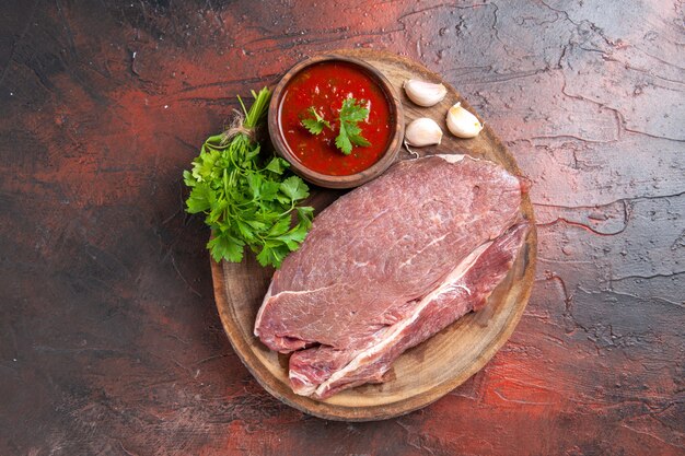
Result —
<svg viewBox="0 0 685 456"><path fill-rule="evenodd" d="M283 139L283 135L281 133L280 107L288 84L304 69L324 61L342 61L358 67L371 77L371 79L383 91L385 98L388 102L391 114L391 139L387 149L378 162L357 174L348 176L330 176L307 168L293 156L290 148ZM397 91L385 78L385 75L364 60L337 54L311 57L292 67L274 90L268 114L269 137L271 138L271 143L274 144L276 152L286 159L290 163L291 169L303 179L326 188L357 187L380 176L391 164L393 164L393 162L395 162L395 159L397 157L405 131L404 110L399 100Z"/></svg>

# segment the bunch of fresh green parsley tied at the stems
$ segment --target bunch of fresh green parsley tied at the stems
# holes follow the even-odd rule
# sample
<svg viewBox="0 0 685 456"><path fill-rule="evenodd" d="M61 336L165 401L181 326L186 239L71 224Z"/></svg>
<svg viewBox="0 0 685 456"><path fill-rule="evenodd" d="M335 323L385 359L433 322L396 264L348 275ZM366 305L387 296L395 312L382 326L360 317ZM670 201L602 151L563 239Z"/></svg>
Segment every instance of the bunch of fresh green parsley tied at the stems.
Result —
<svg viewBox="0 0 685 456"><path fill-rule="evenodd" d="M206 214L212 231L207 248L216 261L240 262L247 246L262 266L278 268L304 241L314 209L298 206L309 188L300 177L286 177L288 162L259 155L249 131L263 120L271 93L264 87L252 94L249 110L237 97L245 114L242 128L208 138L193 169L183 173L190 188L186 210Z"/></svg>

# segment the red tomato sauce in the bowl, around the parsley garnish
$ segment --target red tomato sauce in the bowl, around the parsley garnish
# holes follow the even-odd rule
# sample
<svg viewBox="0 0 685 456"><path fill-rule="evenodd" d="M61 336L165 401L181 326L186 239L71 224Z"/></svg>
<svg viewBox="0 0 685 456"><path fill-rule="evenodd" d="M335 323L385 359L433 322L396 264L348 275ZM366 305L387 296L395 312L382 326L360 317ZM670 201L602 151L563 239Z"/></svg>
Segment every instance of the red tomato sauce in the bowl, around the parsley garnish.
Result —
<svg viewBox="0 0 685 456"><path fill-rule="evenodd" d="M357 100L369 108L359 122L371 145L355 145L345 155L335 145L342 101ZM299 72L286 86L279 106L280 133L288 149L307 168L329 176L348 176L367 169L385 153L391 140L390 103L383 90L363 69L347 62L325 61ZM312 117L310 106L330 122L320 135L310 133L302 118Z"/></svg>

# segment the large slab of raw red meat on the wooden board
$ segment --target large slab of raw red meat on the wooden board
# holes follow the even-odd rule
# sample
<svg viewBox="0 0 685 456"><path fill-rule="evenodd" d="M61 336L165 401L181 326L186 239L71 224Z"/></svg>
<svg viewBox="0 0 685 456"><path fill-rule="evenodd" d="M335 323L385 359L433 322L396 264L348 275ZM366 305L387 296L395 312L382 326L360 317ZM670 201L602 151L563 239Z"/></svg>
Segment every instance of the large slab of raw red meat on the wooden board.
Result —
<svg viewBox="0 0 685 456"><path fill-rule="evenodd" d="M277 271L255 335L290 359L293 390L381 382L406 349L478 309L529 224L521 180L468 156L402 162L324 210Z"/></svg>

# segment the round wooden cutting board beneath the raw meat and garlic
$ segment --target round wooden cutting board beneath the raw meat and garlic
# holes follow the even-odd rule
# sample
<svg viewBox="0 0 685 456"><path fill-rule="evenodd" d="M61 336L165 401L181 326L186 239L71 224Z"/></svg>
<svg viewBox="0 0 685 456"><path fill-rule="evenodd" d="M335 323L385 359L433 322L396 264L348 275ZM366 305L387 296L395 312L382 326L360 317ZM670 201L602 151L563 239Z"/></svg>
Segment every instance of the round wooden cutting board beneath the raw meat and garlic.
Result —
<svg viewBox="0 0 685 456"><path fill-rule="evenodd" d="M445 113L450 106L461 102L475 113L449 84L445 84L448 96L437 106L421 108L406 98L402 90L404 81L418 78L442 82L438 74L387 52L365 49L335 52L361 58L381 70L403 97L407 124L418 117L431 117L440 124L445 132L442 144L419 149L421 155L466 152L497 162L509 172L521 175L513 157L487 124L475 139L456 139L449 133ZM315 188L311 204L320 211L339 195L340 191ZM527 220L534 222L527 195L523 198L521 210ZM464 383L495 355L514 330L527 303L535 273L536 246L533 223L512 270L484 309L460 318L402 354L388 373L388 382L348 389L323 401L292 393L288 383L288 358L268 350L253 335L255 317L274 270L262 268L252 255L247 255L241 264L211 261L211 268L217 307L225 332L245 366L267 391L289 406L316 417L371 421L397 417L433 402Z"/></svg>

